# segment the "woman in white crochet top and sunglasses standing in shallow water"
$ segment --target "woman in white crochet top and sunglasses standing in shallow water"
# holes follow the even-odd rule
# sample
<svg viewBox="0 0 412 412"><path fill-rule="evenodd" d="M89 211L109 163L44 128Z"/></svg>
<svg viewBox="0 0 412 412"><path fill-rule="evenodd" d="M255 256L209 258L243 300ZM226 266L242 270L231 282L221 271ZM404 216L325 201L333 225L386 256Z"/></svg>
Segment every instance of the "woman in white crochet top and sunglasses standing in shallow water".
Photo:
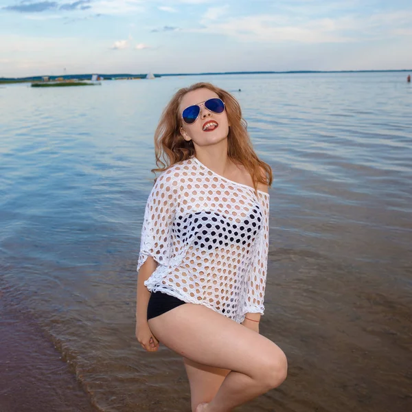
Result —
<svg viewBox="0 0 412 412"><path fill-rule="evenodd" d="M155 133L157 178L137 271L136 336L183 356L193 412L227 412L286 379L264 313L271 168L240 106L209 83L179 90Z"/></svg>

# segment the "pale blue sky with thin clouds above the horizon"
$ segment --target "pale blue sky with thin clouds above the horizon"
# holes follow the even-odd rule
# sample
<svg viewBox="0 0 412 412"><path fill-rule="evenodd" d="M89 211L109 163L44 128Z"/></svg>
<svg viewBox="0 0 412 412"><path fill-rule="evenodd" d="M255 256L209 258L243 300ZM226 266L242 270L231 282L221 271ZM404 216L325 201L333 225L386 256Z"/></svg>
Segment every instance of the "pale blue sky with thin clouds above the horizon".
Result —
<svg viewBox="0 0 412 412"><path fill-rule="evenodd" d="M412 69L411 0L0 0L0 78Z"/></svg>

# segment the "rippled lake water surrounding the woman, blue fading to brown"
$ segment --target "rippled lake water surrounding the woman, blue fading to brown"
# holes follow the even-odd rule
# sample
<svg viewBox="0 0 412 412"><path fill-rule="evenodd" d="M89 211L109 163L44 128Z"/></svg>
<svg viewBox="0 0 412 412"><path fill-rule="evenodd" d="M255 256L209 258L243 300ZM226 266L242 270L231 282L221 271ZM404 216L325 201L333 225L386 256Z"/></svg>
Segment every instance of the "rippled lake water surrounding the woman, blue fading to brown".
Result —
<svg viewBox="0 0 412 412"><path fill-rule="evenodd" d="M289 374L239 411L410 410L406 76L2 87L0 409L190 410L181 358L135 339L135 268L157 121L179 87L209 80L236 95L274 172L261 333L282 347ZM24 376L19 365L30 365Z"/></svg>

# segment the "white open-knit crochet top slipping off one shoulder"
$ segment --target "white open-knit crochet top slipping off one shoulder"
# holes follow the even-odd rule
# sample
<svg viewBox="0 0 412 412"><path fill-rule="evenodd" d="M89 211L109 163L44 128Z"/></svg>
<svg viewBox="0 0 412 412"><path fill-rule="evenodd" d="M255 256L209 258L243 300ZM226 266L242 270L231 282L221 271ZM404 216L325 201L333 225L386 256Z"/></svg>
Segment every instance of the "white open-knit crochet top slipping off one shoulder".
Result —
<svg viewBox="0 0 412 412"><path fill-rule="evenodd" d="M152 256L144 282L187 303L241 323L264 313L269 195L216 174L196 157L165 170L150 192L137 271Z"/></svg>

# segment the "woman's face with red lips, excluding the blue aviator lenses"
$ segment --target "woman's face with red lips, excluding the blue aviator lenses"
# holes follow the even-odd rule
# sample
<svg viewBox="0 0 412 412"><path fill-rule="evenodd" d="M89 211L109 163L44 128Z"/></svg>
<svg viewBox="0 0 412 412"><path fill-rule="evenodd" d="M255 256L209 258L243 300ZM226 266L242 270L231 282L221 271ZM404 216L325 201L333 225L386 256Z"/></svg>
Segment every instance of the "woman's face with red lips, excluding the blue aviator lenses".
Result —
<svg viewBox="0 0 412 412"><path fill-rule="evenodd" d="M209 89L196 89L186 93L179 106L179 117L181 117L186 107L213 98L219 98L219 96ZM180 131L183 139L187 141L193 140L196 146L210 146L227 139L229 123L227 121L226 110L222 113L214 113L207 110L204 104L200 106L201 112L194 123L186 124L183 119L181 119L182 127Z"/></svg>

